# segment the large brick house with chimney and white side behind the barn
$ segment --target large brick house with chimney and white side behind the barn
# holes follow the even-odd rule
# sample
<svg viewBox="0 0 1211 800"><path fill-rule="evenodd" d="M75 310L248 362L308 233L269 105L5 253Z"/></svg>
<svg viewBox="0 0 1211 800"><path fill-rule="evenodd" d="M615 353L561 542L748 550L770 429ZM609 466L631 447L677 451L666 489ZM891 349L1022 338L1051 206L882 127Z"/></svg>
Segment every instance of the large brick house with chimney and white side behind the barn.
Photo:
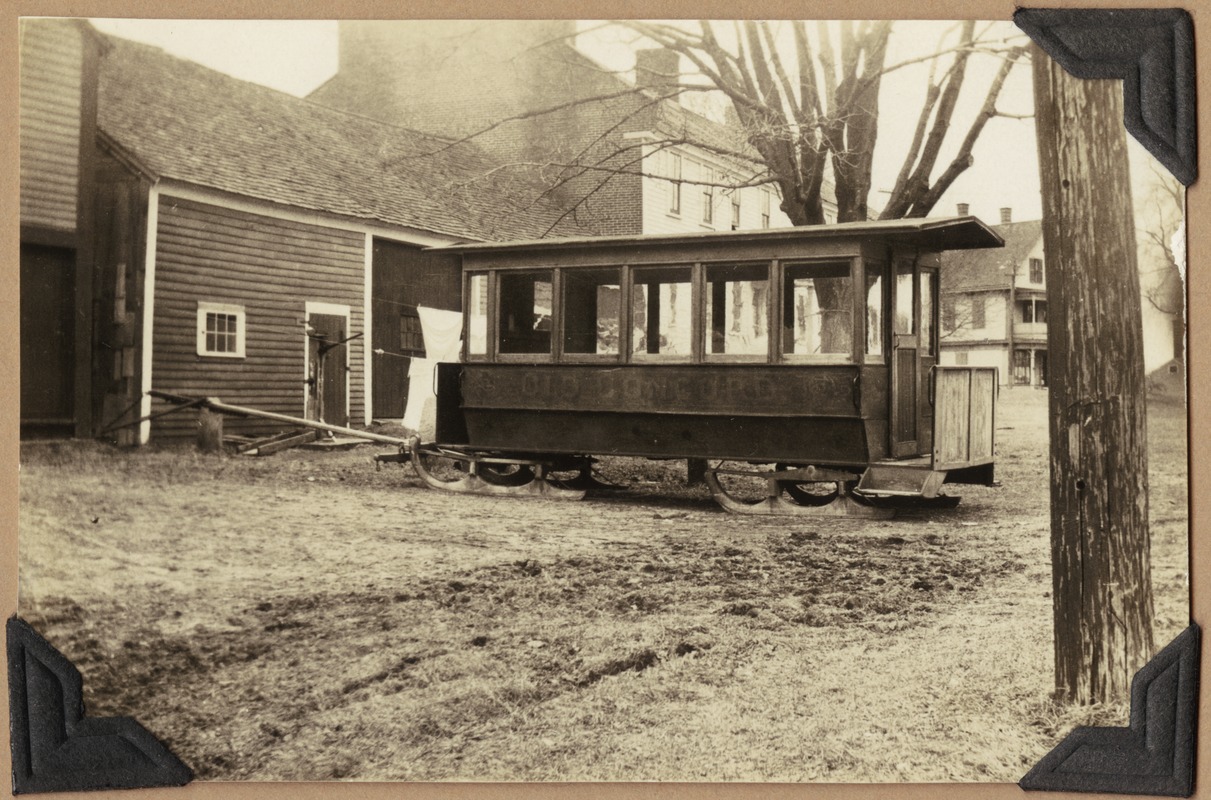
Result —
<svg viewBox="0 0 1211 800"><path fill-rule="evenodd" d="M596 234L791 224L775 185L740 185L756 172L753 160L736 155L756 159L742 132L671 97L677 53L638 51L631 82L575 39L570 19L346 19L338 71L309 99L470 137L541 174ZM836 205L825 206L836 221Z"/></svg>

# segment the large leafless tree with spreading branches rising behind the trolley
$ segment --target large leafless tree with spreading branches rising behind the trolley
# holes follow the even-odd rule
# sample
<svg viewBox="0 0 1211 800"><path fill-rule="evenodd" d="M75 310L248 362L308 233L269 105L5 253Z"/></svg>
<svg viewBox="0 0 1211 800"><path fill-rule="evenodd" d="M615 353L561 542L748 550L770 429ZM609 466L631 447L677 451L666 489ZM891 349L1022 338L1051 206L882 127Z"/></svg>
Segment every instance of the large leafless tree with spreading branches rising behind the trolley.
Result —
<svg viewBox="0 0 1211 800"><path fill-rule="evenodd" d="M826 174L831 173L837 221L869 218L867 196L878 138L879 88L884 75L913 64L929 64L925 98L907 143L902 166L879 217L925 217L954 180L974 163L972 150L985 126L995 116L1014 116L997 109L1005 80L1026 57L1022 45L987 38L968 21L948 28L928 53L888 64L893 23L886 21L836 23L792 21L610 23L637 34L689 61L693 77L664 76L652 87L603 81L589 96L552 97L550 105L523 109L450 145L524 125L567 115L576 108L598 105L609 125L568 146L530 150L500 169L529 169L546 185L543 196L562 195L573 215L616 180L631 177L670 179L653 168L652 156L679 145L691 145L733 163L746 174L681 178L688 185L735 189L776 184L781 209L794 225L822 224ZM534 50L557 58L550 41ZM957 107L972 56L1000 58L985 90L978 113L959 127ZM582 59L569 58L569 69L584 70ZM608 73L608 70L601 70ZM616 77L616 76L615 76ZM621 132L652 115L666 100L694 93L722 93L739 123L735 140L704 140L693 131L666 131L656 139L629 139ZM952 128L962 130L958 150L948 161L941 155ZM899 143L897 143L899 144Z"/></svg>

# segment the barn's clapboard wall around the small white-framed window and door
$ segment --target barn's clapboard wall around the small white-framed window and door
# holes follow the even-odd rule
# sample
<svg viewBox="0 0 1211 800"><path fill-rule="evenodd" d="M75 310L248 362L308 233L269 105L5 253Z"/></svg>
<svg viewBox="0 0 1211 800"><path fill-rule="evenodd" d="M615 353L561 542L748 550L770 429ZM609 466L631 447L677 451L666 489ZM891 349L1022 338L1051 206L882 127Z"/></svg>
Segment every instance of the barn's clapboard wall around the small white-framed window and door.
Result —
<svg viewBox="0 0 1211 800"><path fill-rule="evenodd" d="M306 303L348 306L349 334L365 323L365 241L361 232L322 228L172 196L160 197L155 254L151 382L180 395L303 416L306 386ZM196 352L197 303L245 310L245 357ZM365 414L365 339L346 345L350 419ZM156 403L154 410L166 408ZM281 424L233 418L233 432L268 432ZM170 415L153 438L193 436L193 413Z"/></svg>

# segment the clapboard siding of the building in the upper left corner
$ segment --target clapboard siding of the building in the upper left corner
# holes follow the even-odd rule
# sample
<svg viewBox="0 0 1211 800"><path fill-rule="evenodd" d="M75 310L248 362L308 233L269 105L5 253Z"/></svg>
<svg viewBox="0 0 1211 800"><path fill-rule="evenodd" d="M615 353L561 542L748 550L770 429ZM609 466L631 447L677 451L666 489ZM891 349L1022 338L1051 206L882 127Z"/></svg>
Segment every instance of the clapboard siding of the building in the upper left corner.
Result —
<svg viewBox="0 0 1211 800"><path fill-rule="evenodd" d="M54 19L21 22L21 223L76 230L84 40Z"/></svg>

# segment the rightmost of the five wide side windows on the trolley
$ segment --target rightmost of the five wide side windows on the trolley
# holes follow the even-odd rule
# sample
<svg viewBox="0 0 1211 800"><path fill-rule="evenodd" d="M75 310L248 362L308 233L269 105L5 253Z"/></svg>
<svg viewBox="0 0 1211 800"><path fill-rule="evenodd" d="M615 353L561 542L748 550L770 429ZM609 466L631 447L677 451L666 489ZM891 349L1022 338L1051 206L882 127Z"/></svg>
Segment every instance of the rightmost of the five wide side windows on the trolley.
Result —
<svg viewBox="0 0 1211 800"><path fill-rule="evenodd" d="M849 264L796 264L782 284L782 351L786 355L850 356L854 350L854 287Z"/></svg>

